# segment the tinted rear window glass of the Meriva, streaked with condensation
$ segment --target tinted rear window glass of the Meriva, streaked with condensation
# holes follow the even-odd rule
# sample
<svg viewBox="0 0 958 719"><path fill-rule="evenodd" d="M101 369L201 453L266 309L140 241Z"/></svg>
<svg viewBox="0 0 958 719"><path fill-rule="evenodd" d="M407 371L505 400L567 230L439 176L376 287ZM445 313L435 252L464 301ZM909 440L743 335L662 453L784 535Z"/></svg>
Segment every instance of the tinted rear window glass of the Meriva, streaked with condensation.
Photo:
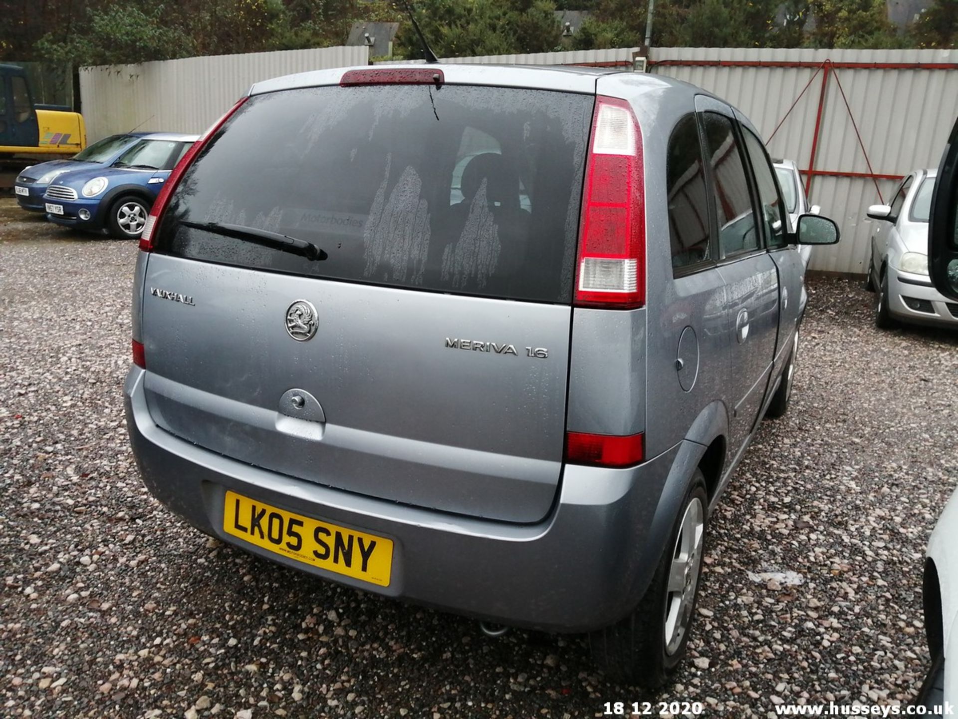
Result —
<svg viewBox="0 0 958 719"><path fill-rule="evenodd" d="M393 287L569 302L594 98L468 85L251 98L177 187L157 251ZM309 261L193 223L278 232Z"/></svg>

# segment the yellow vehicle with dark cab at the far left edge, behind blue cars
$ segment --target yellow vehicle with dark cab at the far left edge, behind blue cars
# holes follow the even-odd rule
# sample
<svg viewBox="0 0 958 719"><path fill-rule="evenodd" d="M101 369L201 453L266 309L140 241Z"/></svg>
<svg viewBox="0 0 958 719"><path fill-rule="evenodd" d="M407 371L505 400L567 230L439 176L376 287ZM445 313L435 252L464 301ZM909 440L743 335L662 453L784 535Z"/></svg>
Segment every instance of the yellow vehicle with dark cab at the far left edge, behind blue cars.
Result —
<svg viewBox="0 0 958 719"><path fill-rule="evenodd" d="M36 104L26 71L0 64L0 159L72 157L86 147L86 126L69 107Z"/></svg>

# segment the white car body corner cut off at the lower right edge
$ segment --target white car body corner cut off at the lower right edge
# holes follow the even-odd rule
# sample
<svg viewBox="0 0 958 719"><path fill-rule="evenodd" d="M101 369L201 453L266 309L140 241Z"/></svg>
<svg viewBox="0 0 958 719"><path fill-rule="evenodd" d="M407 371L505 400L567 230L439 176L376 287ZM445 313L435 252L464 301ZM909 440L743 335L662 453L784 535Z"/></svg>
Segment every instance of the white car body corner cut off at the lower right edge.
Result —
<svg viewBox="0 0 958 719"><path fill-rule="evenodd" d="M939 707L958 701L958 491L928 540L924 560L924 631L931 669L919 692L918 704ZM931 713L929 711L928 713Z"/></svg>

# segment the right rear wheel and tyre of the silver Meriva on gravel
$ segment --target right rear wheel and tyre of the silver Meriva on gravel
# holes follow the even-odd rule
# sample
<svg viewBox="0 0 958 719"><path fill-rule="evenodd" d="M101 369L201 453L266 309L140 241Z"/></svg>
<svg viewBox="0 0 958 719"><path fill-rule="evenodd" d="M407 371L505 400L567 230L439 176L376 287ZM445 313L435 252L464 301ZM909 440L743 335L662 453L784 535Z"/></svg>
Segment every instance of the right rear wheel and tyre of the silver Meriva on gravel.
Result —
<svg viewBox="0 0 958 719"><path fill-rule="evenodd" d="M593 660L609 679L656 689L678 668L695 617L707 510L705 478L696 468L639 605L618 623L589 636Z"/></svg>

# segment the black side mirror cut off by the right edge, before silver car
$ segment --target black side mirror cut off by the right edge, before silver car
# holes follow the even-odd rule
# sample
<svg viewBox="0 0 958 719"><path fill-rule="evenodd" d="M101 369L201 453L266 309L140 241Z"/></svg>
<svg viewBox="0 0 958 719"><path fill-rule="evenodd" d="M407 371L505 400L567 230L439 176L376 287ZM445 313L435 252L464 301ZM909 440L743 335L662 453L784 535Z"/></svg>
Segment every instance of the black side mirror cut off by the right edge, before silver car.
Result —
<svg viewBox="0 0 958 719"><path fill-rule="evenodd" d="M936 290L958 300L958 121L951 128L931 193L928 271Z"/></svg>

